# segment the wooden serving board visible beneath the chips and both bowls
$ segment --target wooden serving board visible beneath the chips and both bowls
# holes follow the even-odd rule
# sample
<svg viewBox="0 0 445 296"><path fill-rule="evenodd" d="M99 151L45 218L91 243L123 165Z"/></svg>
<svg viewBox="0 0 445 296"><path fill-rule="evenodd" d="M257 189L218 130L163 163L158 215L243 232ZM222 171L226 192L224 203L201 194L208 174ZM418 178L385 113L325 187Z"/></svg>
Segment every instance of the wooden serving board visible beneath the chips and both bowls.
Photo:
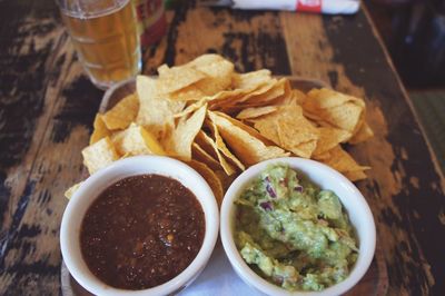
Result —
<svg viewBox="0 0 445 296"><path fill-rule="evenodd" d="M322 88L322 87L330 87L328 83L316 80L316 79L308 79L308 78L301 78L301 77L287 77L293 86L293 88L299 89L301 91L308 91L313 88ZM99 112L105 112L112 108L120 99L125 98L127 95L130 95L136 91L136 83L135 80L128 80L125 82L121 82L113 88L110 88L107 90L107 92L103 95L102 101L99 107ZM88 172L85 170L83 171L85 177L88 176ZM366 195L365 195L366 198ZM225 258L225 254L222 255L224 249L221 247L221 243L218 239L217 245L214 250L214 255L210 258L210 262L206 269L202 272L202 274L197 278L196 283L199 282L205 282L208 277L208 274L214 274L214 269L218 269L216 274L219 276L222 276L225 280L228 283L228 285L221 286L221 293L214 295L214 296L219 296L219 295L227 295L227 293L230 293L230 287L233 287L233 283L230 283L230 277L233 277L231 274L235 275L235 272L231 269L231 267L228 266L228 259ZM211 260L218 260L218 264L212 265ZM222 263L220 263L222 262ZM222 266L222 267L221 267ZM227 267L227 268L224 268ZM224 273L231 273L228 276L224 276ZM61 292L63 296L83 296L83 295L92 295L88 290L86 290L82 286L79 285L79 283L76 282L76 279L70 275L67 266L62 262L61 264ZM240 280L240 279L239 279ZM194 292L194 284L192 283L185 292L180 293L180 295L207 295L202 293L202 290L199 292ZM220 283L218 283L219 286ZM244 283L239 282L237 283L239 285L244 285ZM247 285L243 287L244 289L249 289ZM362 278L362 280L349 292L347 292L345 295L348 296L363 296L363 295L386 295L388 290L388 276L387 276L387 268L386 268L386 263L384 259L384 254L382 247L376 245L376 250L374 255L374 259L369 266L369 269L365 274L365 276ZM240 289L237 287L236 290L233 290L231 295L240 295ZM215 294L215 293L212 293ZM251 293L249 295L260 295L258 294L257 290L254 290L251 288Z"/></svg>

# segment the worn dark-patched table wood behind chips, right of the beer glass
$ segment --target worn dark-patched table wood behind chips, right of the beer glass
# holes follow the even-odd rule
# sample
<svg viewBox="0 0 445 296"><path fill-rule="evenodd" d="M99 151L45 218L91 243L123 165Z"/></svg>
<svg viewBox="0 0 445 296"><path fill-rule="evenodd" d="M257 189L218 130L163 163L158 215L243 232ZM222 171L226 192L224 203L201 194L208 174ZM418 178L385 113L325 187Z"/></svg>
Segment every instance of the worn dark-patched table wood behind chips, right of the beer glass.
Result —
<svg viewBox="0 0 445 296"><path fill-rule="evenodd" d="M145 73L206 52L233 60L238 71L268 68L275 75L290 73L278 12L197 8L194 1L185 1L168 17L168 36L158 48L146 51Z"/></svg>

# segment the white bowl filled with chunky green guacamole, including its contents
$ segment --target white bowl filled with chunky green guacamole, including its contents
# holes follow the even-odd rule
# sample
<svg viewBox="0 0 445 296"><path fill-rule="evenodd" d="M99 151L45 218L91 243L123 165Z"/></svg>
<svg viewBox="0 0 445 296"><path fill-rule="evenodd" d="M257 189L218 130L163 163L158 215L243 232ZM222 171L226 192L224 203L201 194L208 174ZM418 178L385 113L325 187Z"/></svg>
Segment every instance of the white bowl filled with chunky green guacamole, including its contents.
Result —
<svg viewBox="0 0 445 296"><path fill-rule="evenodd" d="M269 295L339 295L365 275L375 224L358 189L314 160L279 158L243 172L221 206L235 272Z"/></svg>

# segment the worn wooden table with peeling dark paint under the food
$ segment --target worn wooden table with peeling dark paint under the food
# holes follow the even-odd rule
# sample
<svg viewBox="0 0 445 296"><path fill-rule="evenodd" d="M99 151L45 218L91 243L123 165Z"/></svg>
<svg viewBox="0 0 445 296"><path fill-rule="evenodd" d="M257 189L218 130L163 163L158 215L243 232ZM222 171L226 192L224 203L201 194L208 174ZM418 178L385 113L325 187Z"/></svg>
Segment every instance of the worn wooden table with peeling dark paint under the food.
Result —
<svg viewBox="0 0 445 296"><path fill-rule="evenodd" d="M320 17L186 2L145 51L145 73L205 53L366 97L375 138L349 150L377 224L390 295L445 295L445 181L366 13ZM63 191L79 181L102 92L82 72L53 0L0 1L0 295L60 294Z"/></svg>

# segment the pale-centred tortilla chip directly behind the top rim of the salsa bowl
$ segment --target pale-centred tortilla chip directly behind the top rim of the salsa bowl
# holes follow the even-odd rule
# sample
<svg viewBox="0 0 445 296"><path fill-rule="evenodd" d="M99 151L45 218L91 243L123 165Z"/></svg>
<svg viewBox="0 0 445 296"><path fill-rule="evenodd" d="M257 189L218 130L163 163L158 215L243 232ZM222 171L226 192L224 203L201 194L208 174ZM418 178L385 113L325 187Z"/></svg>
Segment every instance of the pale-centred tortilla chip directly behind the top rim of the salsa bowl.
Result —
<svg viewBox="0 0 445 296"><path fill-rule="evenodd" d="M120 156L165 155L155 136L136 124L131 124L126 130L115 134L111 140Z"/></svg>

